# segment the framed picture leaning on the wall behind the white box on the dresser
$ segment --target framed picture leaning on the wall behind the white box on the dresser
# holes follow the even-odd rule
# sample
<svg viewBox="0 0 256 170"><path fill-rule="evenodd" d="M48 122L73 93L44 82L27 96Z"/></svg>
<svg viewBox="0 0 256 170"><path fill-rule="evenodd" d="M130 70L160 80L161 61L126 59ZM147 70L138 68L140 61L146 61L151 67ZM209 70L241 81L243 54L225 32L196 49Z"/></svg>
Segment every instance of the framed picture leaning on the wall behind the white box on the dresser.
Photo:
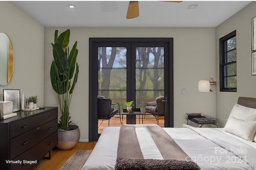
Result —
<svg viewBox="0 0 256 170"><path fill-rule="evenodd" d="M20 111L20 90L4 89L4 101L12 101L13 112Z"/></svg>

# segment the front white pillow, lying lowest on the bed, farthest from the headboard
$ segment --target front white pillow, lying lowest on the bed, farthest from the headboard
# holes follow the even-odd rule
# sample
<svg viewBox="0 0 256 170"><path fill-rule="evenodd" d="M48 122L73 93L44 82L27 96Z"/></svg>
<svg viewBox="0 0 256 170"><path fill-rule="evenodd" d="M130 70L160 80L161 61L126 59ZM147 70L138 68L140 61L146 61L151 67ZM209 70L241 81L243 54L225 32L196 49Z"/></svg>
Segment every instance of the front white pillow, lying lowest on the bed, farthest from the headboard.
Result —
<svg viewBox="0 0 256 170"><path fill-rule="evenodd" d="M252 142L256 133L256 121L236 119L235 117L231 116L228 117L228 121L223 131L232 133Z"/></svg>

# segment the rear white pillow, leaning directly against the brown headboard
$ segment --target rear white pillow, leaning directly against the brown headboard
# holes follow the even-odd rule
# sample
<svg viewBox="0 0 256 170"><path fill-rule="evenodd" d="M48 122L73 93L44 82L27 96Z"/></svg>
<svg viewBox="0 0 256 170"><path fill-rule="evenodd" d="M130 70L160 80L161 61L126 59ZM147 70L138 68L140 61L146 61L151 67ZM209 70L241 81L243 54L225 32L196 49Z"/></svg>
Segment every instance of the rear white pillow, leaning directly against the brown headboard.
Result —
<svg viewBox="0 0 256 170"><path fill-rule="evenodd" d="M235 104L229 117L231 116L235 117L236 119L256 121L256 109Z"/></svg>

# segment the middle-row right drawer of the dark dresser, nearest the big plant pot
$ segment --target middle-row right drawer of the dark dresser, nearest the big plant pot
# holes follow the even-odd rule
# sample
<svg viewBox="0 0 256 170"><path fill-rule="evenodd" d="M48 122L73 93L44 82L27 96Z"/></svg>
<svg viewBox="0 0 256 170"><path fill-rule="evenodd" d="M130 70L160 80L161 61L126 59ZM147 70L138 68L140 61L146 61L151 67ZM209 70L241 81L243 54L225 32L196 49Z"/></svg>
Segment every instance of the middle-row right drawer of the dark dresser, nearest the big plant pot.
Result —
<svg viewBox="0 0 256 170"><path fill-rule="evenodd" d="M44 125L40 126L38 133L40 134L38 142L42 141L44 138L52 135L52 133L58 130L58 119L54 119Z"/></svg>

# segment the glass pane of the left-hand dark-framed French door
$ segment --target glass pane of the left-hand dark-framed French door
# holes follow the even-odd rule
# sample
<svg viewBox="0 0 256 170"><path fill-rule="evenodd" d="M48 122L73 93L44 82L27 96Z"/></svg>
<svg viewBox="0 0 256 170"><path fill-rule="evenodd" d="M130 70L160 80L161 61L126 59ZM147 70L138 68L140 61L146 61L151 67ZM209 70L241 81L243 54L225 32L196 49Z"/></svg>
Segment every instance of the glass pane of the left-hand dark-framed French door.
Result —
<svg viewBox="0 0 256 170"><path fill-rule="evenodd" d="M119 103L120 110L126 106L126 53L126 47L98 47L98 96ZM112 107L117 109L117 105ZM108 120L105 124L108 124ZM98 133L101 131L98 129Z"/></svg>

